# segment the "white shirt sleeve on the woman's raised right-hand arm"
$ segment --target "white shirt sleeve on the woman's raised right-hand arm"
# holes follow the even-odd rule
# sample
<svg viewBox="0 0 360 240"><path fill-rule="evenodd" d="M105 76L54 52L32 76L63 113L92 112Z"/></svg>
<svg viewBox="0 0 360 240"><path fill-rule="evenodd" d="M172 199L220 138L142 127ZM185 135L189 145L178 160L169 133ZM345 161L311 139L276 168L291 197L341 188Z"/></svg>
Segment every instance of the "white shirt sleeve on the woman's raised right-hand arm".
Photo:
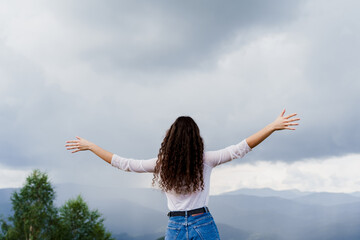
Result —
<svg viewBox="0 0 360 240"><path fill-rule="evenodd" d="M218 151L206 152L204 154L204 163L211 167L216 167L233 159L242 158L250 151L251 148L247 144L246 139L244 139L236 145L231 145Z"/></svg>

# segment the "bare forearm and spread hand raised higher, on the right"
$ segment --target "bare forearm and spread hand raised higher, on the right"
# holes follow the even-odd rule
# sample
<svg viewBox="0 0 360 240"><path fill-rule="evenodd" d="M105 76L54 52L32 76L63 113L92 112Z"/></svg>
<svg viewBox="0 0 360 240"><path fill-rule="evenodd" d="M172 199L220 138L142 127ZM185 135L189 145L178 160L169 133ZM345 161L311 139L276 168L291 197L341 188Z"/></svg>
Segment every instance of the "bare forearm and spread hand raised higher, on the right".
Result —
<svg viewBox="0 0 360 240"><path fill-rule="evenodd" d="M251 135L246 139L247 144L250 148L254 148L259 145L262 141L264 141L268 136L270 136L273 132L278 130L295 130L295 128L291 126L299 125L298 123L294 123L299 121L300 118L293 118L296 116L296 113L290 114L288 116L284 116L285 109L281 112L281 114L275 119L274 122L270 123L257 133Z"/></svg>

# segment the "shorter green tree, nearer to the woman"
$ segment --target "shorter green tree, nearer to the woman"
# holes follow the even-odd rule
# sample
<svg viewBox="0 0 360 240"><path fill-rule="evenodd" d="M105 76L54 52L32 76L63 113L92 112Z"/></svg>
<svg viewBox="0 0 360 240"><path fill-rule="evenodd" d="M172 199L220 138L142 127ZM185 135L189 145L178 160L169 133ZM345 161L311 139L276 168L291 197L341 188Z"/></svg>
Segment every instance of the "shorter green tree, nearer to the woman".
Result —
<svg viewBox="0 0 360 240"><path fill-rule="evenodd" d="M79 195L68 200L60 209L61 239L110 240L111 234L105 230L104 219L97 210L90 211Z"/></svg>

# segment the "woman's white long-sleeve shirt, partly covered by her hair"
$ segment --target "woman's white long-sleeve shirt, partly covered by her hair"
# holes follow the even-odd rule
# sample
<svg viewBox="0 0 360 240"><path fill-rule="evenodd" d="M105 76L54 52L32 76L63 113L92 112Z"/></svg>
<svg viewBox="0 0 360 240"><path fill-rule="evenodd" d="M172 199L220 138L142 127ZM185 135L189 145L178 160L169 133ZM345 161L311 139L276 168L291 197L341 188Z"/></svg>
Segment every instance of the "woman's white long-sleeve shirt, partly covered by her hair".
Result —
<svg viewBox="0 0 360 240"><path fill-rule="evenodd" d="M204 152L204 190L190 194L177 194L174 191L165 192L170 211L186 211L207 206L209 202L210 175L214 167L242 158L251 151L244 139L236 145L218 151ZM135 160L123 158L116 154L112 156L111 165L128 172L153 173L157 158L149 160Z"/></svg>

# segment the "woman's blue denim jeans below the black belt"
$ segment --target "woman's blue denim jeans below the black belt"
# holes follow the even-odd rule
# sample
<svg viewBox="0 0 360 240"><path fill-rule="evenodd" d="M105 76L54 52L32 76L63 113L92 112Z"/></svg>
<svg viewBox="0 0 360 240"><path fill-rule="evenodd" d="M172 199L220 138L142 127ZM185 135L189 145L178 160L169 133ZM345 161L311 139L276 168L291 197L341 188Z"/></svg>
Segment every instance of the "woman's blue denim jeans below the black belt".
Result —
<svg viewBox="0 0 360 240"><path fill-rule="evenodd" d="M219 232L209 212L197 216L170 217L165 240L220 240Z"/></svg>

